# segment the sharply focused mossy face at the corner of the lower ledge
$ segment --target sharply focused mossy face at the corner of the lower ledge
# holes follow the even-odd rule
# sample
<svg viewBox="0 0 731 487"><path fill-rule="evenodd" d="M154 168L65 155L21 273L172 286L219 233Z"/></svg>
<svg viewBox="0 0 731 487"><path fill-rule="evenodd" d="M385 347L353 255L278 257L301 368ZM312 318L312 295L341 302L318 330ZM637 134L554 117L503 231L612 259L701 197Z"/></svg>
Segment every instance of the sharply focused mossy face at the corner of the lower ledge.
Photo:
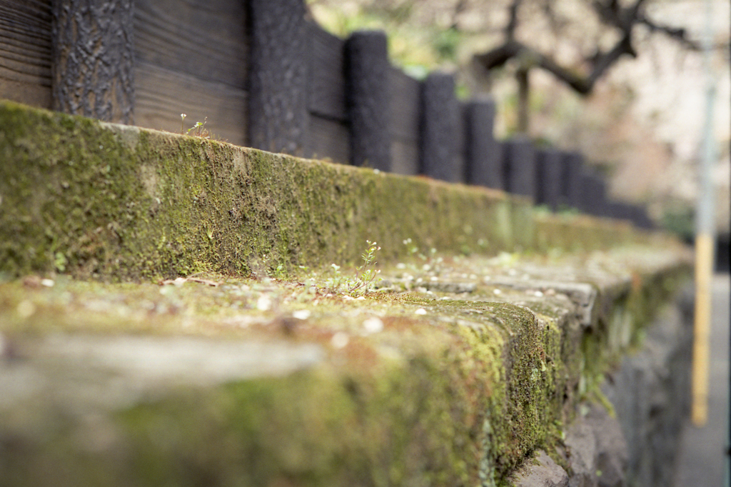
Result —
<svg viewBox="0 0 731 487"><path fill-rule="evenodd" d="M455 317L452 332L468 345L460 362L479 364L477 377L488 388L481 399L489 423L489 450L483 452L482 464L493 469L496 479L534 449L550 449L560 441L556 425L575 401L564 360L576 357L564 356L569 349L562 349L562 331L554 320L537 320L529 309L510 303L411 302Z"/></svg>

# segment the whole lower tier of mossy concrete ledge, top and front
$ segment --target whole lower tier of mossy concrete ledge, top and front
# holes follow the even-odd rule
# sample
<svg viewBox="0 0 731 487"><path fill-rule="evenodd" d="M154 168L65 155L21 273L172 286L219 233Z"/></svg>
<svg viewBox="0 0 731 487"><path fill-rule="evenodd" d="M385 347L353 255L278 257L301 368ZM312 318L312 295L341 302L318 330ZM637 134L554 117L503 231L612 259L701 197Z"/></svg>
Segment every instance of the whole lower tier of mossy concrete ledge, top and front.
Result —
<svg viewBox="0 0 731 487"><path fill-rule="evenodd" d="M5 282L0 485L504 485L688 271L645 246L417 258L356 297L322 275Z"/></svg>

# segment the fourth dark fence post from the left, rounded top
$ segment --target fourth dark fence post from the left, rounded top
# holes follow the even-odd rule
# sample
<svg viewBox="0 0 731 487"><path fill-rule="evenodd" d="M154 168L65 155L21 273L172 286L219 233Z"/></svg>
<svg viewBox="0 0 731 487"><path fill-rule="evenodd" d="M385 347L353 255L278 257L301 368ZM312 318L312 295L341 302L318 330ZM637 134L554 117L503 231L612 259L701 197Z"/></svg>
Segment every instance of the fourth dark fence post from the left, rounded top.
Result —
<svg viewBox="0 0 731 487"><path fill-rule="evenodd" d="M432 72L423 82L421 95L421 173L443 181L462 182L463 167L458 154L461 137L457 134L461 110L455 97L454 78Z"/></svg>

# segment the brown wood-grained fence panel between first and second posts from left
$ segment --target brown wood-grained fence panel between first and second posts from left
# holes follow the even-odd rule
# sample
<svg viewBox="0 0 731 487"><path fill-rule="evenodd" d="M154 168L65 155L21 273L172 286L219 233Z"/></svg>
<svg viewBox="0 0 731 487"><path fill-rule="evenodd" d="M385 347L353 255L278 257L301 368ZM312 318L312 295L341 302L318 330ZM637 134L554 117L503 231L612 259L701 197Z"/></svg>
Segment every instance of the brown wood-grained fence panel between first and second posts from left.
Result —
<svg viewBox="0 0 731 487"><path fill-rule="evenodd" d="M142 127L179 132L206 127L246 143L249 36L244 2L135 1L135 119Z"/></svg>

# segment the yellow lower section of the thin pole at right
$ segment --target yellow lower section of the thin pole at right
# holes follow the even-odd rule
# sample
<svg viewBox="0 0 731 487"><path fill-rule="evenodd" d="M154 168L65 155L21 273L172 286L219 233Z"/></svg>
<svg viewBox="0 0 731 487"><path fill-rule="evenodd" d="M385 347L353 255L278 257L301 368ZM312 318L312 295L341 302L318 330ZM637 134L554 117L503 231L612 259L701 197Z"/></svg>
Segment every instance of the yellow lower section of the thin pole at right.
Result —
<svg viewBox="0 0 731 487"><path fill-rule="evenodd" d="M693 404L695 426L708 420L708 335L711 331L711 278L713 277L713 236L700 233L695 238L695 315L693 341Z"/></svg>

